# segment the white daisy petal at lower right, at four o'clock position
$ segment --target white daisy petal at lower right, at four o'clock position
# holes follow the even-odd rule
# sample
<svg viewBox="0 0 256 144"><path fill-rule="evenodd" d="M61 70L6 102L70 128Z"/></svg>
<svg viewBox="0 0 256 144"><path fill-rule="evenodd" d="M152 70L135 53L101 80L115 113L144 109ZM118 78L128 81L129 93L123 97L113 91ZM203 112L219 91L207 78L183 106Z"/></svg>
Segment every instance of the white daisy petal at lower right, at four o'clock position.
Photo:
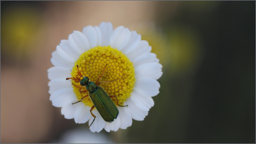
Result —
<svg viewBox="0 0 256 144"><path fill-rule="evenodd" d="M132 96L130 98L135 103L135 105L143 111L149 111L149 109L154 105L154 101L152 105L152 97L139 95L135 91L132 92Z"/></svg>

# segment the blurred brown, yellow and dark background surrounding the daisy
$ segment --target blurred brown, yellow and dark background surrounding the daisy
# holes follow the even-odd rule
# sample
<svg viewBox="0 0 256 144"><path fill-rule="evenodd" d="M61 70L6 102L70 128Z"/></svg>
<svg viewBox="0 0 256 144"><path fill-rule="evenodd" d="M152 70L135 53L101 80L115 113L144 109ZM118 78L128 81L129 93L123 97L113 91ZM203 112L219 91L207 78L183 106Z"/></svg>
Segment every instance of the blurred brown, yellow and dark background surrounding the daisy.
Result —
<svg viewBox="0 0 256 144"><path fill-rule="evenodd" d="M136 30L163 65L144 121L92 133L52 106L47 69L86 25ZM255 1L1 1L1 143L255 143Z"/></svg>

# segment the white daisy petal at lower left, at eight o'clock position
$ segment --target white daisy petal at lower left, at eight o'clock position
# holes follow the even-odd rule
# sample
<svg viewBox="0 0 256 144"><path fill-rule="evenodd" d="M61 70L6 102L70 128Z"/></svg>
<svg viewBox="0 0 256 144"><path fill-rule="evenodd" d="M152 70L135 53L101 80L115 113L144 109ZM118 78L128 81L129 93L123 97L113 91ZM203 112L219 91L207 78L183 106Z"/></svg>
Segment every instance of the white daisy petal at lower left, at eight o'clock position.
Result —
<svg viewBox="0 0 256 144"><path fill-rule="evenodd" d="M50 95L50 100L54 107L64 107L76 100L76 96L73 92L73 88L67 88L52 93Z"/></svg>

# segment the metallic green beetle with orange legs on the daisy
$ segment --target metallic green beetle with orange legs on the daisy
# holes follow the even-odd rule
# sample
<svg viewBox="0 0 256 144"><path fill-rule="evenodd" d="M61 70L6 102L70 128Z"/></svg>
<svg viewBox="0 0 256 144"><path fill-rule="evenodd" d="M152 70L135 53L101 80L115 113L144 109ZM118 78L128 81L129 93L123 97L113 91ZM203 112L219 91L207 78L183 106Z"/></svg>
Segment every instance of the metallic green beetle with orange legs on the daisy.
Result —
<svg viewBox="0 0 256 144"><path fill-rule="evenodd" d="M106 64L107 66L108 64ZM80 93L85 93L87 91L89 91L88 95L85 95L84 97L82 97L80 99L80 101L82 101L84 98L90 96L93 106L90 109L90 113L91 115L94 117L92 123L94 122L96 116L92 113L92 110L94 109L94 107L96 107L96 109L98 110L98 112L100 113L101 117L104 119L104 121L106 122L112 122L114 121L114 119L117 118L118 116L118 109L116 107L116 105L114 104L114 102L112 101L112 97L116 98L116 103L118 104L118 99L116 97L116 95L108 95L99 85L101 83L109 83L109 82L113 82L115 80L112 81L103 81L103 82L99 82L99 79L103 76L106 66L104 67L104 70L102 71L102 74L100 76L98 76L96 83L94 82L90 82L89 78L87 76L82 76L81 71L78 68L78 65L76 65L77 67L77 74L78 76L76 77L72 77L72 78L66 78L66 80L72 79L77 83L80 83L81 86L76 86L75 84L73 84L75 87L79 88ZM82 78L82 79L81 79ZM116 79L117 80L117 79ZM86 89L85 89L85 88ZM85 90L82 90L82 88L84 88ZM78 103L80 101L77 101L75 103ZM75 104L72 103L72 104ZM120 107L126 107L128 105L119 105ZM90 124L90 126L92 125L92 123ZM88 128L90 128L90 126L88 126Z"/></svg>

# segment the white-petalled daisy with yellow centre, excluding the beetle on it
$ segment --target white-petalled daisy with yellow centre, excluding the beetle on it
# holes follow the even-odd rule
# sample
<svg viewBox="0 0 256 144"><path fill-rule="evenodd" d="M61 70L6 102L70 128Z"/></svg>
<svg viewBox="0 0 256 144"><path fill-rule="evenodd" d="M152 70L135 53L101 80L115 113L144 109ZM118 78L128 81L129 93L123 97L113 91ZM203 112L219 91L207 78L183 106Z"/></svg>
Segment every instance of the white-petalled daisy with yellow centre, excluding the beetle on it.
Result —
<svg viewBox="0 0 256 144"><path fill-rule="evenodd" d="M157 80L162 76L162 65L156 54L150 53L151 49L136 31L124 26L113 30L110 22L74 31L52 53L54 66L48 69L52 105L62 107L61 114L66 119L74 119L76 123L89 121L92 132L103 128L107 132L117 131L131 126L132 119L143 121L154 106L152 97L159 93ZM90 96L85 97L90 93L79 82L86 76L98 84L101 75L98 82L102 83L98 86L107 95L116 95L111 99L119 113L112 122L104 121L96 107L91 111L94 119L90 112L94 104ZM85 98L80 101L82 97ZM120 107L117 99L125 107Z"/></svg>

